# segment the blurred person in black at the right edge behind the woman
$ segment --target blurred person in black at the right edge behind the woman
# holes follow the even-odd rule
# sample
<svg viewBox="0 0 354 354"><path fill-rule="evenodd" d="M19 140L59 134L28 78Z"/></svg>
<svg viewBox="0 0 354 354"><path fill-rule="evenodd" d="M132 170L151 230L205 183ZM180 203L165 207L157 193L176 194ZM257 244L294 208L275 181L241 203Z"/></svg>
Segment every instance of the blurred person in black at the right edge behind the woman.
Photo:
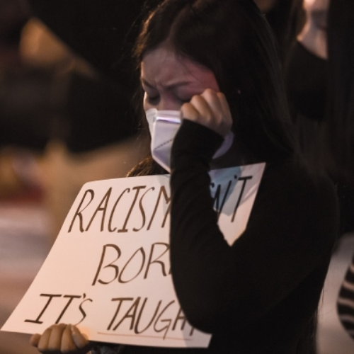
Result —
<svg viewBox="0 0 354 354"><path fill-rule="evenodd" d="M354 1L304 0L307 22L292 48L287 89L302 152L337 183L341 235L354 231ZM338 316L354 338L354 257Z"/></svg>

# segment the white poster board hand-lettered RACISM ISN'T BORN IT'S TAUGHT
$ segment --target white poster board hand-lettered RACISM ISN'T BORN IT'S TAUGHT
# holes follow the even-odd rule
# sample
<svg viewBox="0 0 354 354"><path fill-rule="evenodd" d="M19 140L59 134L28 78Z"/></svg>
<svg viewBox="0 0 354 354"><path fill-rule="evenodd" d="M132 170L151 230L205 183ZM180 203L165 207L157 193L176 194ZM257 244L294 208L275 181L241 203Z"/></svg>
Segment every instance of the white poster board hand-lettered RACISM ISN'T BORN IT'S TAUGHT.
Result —
<svg viewBox="0 0 354 354"><path fill-rule="evenodd" d="M212 171L219 227L229 244L246 228L265 164ZM32 285L2 331L76 324L92 341L207 347L173 290L169 176L86 183ZM221 211L220 211L221 210Z"/></svg>

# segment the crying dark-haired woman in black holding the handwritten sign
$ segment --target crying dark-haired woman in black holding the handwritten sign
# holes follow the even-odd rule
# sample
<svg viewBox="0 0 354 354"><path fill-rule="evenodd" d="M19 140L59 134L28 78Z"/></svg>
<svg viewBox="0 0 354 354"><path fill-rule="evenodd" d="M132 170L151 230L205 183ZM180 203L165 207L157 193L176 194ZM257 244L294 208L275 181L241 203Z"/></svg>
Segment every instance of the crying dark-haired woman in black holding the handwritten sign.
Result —
<svg viewBox="0 0 354 354"><path fill-rule="evenodd" d="M251 0L166 0L144 24L135 54L145 110L181 110L184 118L171 151L171 272L188 321L212 340L207 349L119 350L310 353L336 237L336 194L297 159L265 18ZM212 159L230 130L232 147ZM229 246L207 172L261 161L248 227ZM132 175L161 172L149 157ZM58 328L33 336L33 345L58 353L74 343L71 331L79 338Z"/></svg>

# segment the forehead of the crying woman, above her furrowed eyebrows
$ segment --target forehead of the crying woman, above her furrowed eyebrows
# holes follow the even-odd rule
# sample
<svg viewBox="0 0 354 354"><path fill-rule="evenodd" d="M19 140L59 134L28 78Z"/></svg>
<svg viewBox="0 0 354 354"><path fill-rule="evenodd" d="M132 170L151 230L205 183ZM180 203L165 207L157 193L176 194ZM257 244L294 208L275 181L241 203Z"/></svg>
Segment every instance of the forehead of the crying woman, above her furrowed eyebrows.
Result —
<svg viewBox="0 0 354 354"><path fill-rule="evenodd" d="M206 85L216 83L210 69L165 47L147 52L142 59L141 70L142 80L155 86L171 86L180 81Z"/></svg>

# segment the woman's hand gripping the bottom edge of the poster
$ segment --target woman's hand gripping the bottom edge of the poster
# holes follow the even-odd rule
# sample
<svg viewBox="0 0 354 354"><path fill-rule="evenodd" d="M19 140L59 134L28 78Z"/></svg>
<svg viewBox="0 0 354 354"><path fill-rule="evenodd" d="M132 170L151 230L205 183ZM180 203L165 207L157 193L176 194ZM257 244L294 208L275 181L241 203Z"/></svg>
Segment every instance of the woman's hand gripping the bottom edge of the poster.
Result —
<svg viewBox="0 0 354 354"><path fill-rule="evenodd" d="M86 354L92 344L75 326L55 324L47 328L42 335L33 334L30 345L38 348L40 353Z"/></svg>

